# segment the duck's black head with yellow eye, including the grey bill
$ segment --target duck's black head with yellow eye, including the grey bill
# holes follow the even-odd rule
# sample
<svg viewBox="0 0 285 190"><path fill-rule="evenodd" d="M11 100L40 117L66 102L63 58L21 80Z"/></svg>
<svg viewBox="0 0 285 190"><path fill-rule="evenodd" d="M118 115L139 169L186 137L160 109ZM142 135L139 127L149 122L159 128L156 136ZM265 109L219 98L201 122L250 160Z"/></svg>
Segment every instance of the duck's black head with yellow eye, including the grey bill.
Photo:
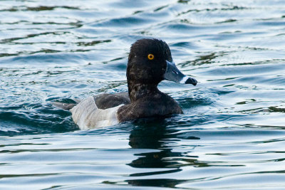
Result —
<svg viewBox="0 0 285 190"><path fill-rule="evenodd" d="M184 75L172 62L167 43L157 39L140 39L130 48L128 83L157 85L162 80L196 85L197 80Z"/></svg>

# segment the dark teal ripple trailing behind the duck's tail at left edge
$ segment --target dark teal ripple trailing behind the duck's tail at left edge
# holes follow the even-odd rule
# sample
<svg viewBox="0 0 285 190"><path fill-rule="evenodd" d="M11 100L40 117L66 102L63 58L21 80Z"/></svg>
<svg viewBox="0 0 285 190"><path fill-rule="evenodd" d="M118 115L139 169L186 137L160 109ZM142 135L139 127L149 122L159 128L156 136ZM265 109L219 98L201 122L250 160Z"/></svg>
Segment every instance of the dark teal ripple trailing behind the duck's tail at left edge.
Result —
<svg viewBox="0 0 285 190"><path fill-rule="evenodd" d="M23 104L0 109L0 134L38 134L47 132L68 132L77 130L70 113L40 104ZM9 132L6 132L7 130Z"/></svg>

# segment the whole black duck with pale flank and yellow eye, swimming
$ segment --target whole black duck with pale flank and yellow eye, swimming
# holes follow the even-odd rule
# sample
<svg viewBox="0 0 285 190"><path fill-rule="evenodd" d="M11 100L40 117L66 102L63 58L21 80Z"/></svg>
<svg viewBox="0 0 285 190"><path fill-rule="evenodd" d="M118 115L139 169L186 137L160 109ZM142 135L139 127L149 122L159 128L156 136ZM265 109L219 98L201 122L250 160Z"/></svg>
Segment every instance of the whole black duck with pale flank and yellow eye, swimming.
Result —
<svg viewBox="0 0 285 190"><path fill-rule="evenodd" d="M157 85L162 80L197 85L195 78L177 68L167 43L157 38L142 38L132 44L126 75L128 93L103 93L76 104L55 102L54 105L70 110L76 125L87 130L145 117L182 114L180 105Z"/></svg>

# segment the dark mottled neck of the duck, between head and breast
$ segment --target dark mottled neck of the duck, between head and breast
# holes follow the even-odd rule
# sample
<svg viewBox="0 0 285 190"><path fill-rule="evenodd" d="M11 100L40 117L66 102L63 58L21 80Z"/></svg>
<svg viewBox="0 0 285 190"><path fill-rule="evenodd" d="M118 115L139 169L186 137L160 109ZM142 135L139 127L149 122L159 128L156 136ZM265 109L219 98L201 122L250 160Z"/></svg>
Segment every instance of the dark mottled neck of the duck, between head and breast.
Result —
<svg viewBox="0 0 285 190"><path fill-rule="evenodd" d="M157 84L128 83L130 102L135 102L146 95L160 93Z"/></svg>

